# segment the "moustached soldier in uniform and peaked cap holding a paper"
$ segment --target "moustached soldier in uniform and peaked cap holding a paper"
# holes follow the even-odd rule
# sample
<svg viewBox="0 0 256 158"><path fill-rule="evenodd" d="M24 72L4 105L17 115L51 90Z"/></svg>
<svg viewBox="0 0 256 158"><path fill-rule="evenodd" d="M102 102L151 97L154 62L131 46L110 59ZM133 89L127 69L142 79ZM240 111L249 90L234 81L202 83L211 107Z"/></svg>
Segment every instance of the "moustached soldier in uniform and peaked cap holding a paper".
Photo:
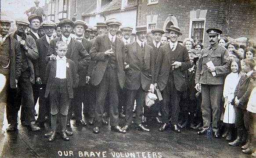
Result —
<svg viewBox="0 0 256 158"><path fill-rule="evenodd" d="M210 46L202 50L195 75L195 89L202 92L203 129L198 131L198 134L206 134L212 120L213 136L219 138L220 101L225 75L229 72L231 61L227 49L218 44L222 31L207 29L206 32Z"/></svg>

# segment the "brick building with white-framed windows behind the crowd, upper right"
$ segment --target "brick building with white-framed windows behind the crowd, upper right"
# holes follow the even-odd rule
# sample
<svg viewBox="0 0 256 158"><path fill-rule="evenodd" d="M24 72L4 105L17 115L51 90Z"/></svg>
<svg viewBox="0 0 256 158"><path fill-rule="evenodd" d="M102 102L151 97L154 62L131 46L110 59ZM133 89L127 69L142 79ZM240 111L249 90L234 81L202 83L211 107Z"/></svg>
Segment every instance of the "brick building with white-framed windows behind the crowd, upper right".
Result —
<svg viewBox="0 0 256 158"><path fill-rule="evenodd" d="M219 28L231 38L255 42L255 0L138 0L137 25L166 29L177 25L180 40L191 37L208 45L206 29Z"/></svg>

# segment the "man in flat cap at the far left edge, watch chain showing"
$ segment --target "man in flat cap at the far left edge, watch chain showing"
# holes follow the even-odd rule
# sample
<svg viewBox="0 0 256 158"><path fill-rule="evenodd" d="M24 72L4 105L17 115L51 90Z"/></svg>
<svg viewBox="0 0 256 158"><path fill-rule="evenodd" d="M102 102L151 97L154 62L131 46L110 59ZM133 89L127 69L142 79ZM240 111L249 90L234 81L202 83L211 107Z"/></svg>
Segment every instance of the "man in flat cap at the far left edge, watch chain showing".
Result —
<svg viewBox="0 0 256 158"><path fill-rule="evenodd" d="M21 75L22 54L18 41L8 34L12 20L7 16L1 15L0 22L0 80L2 83L4 79L6 80L4 87L1 87L2 91L0 91L0 130L2 130L4 108L6 107L7 112L10 112L11 109L13 109L12 107L15 106L13 104L13 96L15 96L16 85ZM14 119L8 119L8 124L12 126L17 124L17 118L16 122L12 121L14 121ZM11 126L7 127L7 129L11 128Z"/></svg>

